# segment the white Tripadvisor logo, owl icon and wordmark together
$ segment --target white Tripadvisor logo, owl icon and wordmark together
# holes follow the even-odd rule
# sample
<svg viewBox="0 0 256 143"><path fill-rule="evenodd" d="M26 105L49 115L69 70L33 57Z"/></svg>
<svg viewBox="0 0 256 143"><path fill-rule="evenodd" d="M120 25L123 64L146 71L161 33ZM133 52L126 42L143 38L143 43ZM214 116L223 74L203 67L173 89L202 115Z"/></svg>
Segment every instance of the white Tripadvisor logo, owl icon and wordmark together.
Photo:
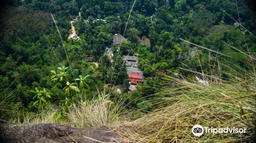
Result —
<svg viewBox="0 0 256 143"><path fill-rule="evenodd" d="M195 125L192 128L192 133L195 136L201 136L204 131L205 133L212 133L212 134L216 134L216 133L245 133L246 129L245 128L212 128L212 127L202 127L201 125Z"/></svg>

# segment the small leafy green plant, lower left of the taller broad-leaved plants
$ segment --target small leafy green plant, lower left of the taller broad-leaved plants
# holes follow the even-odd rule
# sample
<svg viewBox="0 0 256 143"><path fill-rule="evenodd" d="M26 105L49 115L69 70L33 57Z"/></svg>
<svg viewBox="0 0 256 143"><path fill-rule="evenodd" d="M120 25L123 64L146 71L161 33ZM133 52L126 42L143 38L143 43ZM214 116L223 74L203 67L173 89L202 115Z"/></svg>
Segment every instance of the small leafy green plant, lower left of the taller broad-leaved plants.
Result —
<svg viewBox="0 0 256 143"><path fill-rule="evenodd" d="M35 87L35 90L31 90L31 92L35 93L33 99L37 99L34 102L33 106L37 106L38 109L41 109L42 106L47 104L47 101L51 99L51 92L47 91L46 88L44 88L43 90L38 90L38 88Z"/></svg>

